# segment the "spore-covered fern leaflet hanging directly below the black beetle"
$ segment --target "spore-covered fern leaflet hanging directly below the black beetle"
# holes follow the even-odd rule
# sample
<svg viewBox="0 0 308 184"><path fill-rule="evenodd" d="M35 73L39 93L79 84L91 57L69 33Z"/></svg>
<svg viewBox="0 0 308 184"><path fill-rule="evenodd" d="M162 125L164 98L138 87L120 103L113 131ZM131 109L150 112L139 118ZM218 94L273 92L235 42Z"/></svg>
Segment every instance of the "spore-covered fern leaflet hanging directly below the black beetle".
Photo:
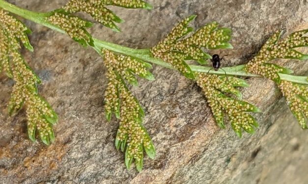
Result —
<svg viewBox="0 0 308 184"><path fill-rule="evenodd" d="M211 108L216 123L224 126L224 116L227 116L231 126L238 137L242 137L242 130L252 134L258 127L258 123L252 115L247 112L258 113L260 110L254 105L229 97L234 94L241 98L241 92L235 87L248 87L245 80L228 76L207 75L196 72L196 82L201 87L207 102Z"/></svg>

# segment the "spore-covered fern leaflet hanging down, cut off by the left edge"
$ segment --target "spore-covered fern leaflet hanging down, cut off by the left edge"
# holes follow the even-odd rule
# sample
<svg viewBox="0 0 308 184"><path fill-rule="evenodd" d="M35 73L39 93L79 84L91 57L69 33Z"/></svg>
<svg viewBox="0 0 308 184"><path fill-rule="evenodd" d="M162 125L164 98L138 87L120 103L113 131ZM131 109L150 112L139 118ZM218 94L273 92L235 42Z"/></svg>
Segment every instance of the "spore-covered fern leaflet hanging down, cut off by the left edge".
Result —
<svg viewBox="0 0 308 184"><path fill-rule="evenodd" d="M34 141L38 132L41 140L49 145L55 135L52 126L57 122L57 115L47 101L37 92L41 81L29 68L19 50L19 41L33 51L28 41L28 28L0 8L0 69L15 81L8 104L10 115L26 107L28 136Z"/></svg>

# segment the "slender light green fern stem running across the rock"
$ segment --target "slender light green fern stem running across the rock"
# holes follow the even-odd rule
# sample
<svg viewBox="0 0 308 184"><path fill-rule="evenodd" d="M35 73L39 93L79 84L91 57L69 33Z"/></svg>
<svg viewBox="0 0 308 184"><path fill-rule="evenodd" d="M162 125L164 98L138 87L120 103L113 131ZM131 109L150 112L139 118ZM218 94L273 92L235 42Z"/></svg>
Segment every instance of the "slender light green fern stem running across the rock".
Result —
<svg viewBox="0 0 308 184"><path fill-rule="evenodd" d="M11 12L11 13L19 15L19 16L25 18L25 19L28 19L28 20L30 20L34 23L44 25L48 28L51 28L53 30L56 30L58 32L66 34L66 32L64 30L60 29L58 26L53 25L53 24L51 24L47 21L46 17L48 17L50 15L50 13L32 12L32 11L29 11L29 10L26 10L26 9L23 9L23 8L19 8L19 7L15 6L13 4L10 4L10 3L8 3L4 0L0 0L0 7L9 11L9 12ZM93 38L93 40L94 40L93 49L96 52L98 52L99 54L101 54L102 48L106 48L106 49L112 50L112 51L120 53L120 54L132 56L132 57L138 58L140 60L159 65L161 67L173 69L171 67L171 65L169 65L168 63L166 63L166 62L164 62L160 59L152 57L149 49L133 49L133 48L129 48L129 47L120 46L120 45L117 45L117 44L105 42L105 41L95 39L95 38ZM189 65L189 66L193 71L198 71L198 72L208 72L209 69L211 69L210 67L203 67L203 66L196 66L196 65ZM227 67L227 68L223 68L223 69L225 70L227 75L246 76L246 77L262 77L260 75L248 73L248 72L244 71L244 68L245 68L245 65L239 65L239 66ZM210 70L209 73L219 74L219 75L225 74L222 69L220 69L218 71ZM279 73L279 75L280 75L281 80L294 82L294 83L298 83L298 84L308 85L308 81L307 81L306 76L294 76L294 75L288 75L288 74L282 74L282 73Z"/></svg>

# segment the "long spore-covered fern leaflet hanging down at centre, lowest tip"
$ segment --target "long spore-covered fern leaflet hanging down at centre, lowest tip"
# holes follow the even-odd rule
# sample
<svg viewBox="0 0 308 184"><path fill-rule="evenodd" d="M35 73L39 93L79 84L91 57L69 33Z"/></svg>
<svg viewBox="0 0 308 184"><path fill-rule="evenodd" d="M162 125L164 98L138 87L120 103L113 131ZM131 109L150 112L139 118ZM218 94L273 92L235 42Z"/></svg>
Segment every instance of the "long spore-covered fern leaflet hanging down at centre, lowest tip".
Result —
<svg viewBox="0 0 308 184"><path fill-rule="evenodd" d="M138 171L142 170L143 149L147 155L154 159L155 148L147 131L142 126L144 112L133 94L129 91L125 81L136 85L138 75L148 80L153 80L153 75L148 71L150 64L138 61L129 56L115 55L103 49L105 67L108 69L108 86L105 91L105 110L108 120L111 114L120 119L119 129L115 138L115 146L125 151L125 164L129 169L133 160Z"/></svg>

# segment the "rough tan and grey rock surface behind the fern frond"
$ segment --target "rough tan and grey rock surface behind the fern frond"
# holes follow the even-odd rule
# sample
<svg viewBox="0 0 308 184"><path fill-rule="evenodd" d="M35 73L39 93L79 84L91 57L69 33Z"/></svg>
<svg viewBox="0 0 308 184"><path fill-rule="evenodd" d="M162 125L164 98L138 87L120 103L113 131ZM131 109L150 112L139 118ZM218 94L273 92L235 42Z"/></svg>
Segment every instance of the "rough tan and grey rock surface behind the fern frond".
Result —
<svg viewBox="0 0 308 184"><path fill-rule="evenodd" d="M50 11L67 0L8 0L33 11ZM148 48L181 19L196 14L192 25L217 21L233 30L233 50L223 66L244 64L274 31L308 28L307 0L148 0L149 10L112 8L126 22L114 33L101 25L96 37L123 46ZM213 121L196 84L177 71L153 67L155 81L132 88L145 110L144 126L156 146L155 160L144 159L138 173L126 170L116 151L118 121L104 116L107 80L103 61L91 48L68 36L24 21L33 31L34 52L23 50L41 77L39 92L54 107L56 141L45 146L27 136L24 111L8 117L13 82L0 75L0 184L307 184L308 132L292 116L281 93L266 79L247 79L243 96L260 107L260 127L237 138L229 124ZM304 75L308 62L281 60ZM306 73L307 75L307 73Z"/></svg>

